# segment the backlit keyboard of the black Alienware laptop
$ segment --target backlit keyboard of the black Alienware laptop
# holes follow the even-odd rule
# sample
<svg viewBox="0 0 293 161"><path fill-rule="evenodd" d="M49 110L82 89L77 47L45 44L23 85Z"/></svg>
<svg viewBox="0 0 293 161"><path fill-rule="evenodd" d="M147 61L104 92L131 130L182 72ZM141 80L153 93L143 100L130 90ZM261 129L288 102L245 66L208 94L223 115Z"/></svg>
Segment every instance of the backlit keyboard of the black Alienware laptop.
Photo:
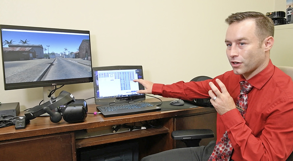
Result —
<svg viewBox="0 0 293 161"><path fill-rule="evenodd" d="M141 108L141 107L150 107L154 106L148 102L141 102L141 103L135 103L135 104L126 104L126 105L113 105L113 106L103 106L103 107L97 107L100 112L106 112L106 111L115 111L115 110L121 110L121 109L134 109L134 108Z"/></svg>

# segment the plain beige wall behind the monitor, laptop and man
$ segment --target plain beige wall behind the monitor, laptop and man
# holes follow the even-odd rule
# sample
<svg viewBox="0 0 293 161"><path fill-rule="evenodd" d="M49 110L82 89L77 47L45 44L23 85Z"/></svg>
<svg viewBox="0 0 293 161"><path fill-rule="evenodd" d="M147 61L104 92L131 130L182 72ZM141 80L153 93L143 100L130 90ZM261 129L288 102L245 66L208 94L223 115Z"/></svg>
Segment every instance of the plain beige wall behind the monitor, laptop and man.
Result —
<svg viewBox="0 0 293 161"><path fill-rule="evenodd" d="M93 66L142 65L145 79L168 84L231 70L224 19L274 8L274 0L0 0L0 23L90 30ZM42 100L42 88L4 90L3 84L0 76L2 103L20 102L24 110ZM77 99L94 93L93 83L61 89Z"/></svg>

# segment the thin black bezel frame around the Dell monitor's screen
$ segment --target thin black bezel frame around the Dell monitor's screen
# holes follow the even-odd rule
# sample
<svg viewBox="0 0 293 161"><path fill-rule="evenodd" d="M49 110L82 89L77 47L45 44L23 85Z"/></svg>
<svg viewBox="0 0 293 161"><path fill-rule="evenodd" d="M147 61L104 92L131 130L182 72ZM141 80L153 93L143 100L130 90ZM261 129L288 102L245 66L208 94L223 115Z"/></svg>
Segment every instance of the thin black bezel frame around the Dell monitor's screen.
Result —
<svg viewBox="0 0 293 161"><path fill-rule="evenodd" d="M1 43L3 43L2 29L81 33L81 34L88 34L89 35L89 40L91 41L90 31L88 31L88 30L44 28L44 27L30 27L30 26L17 26L17 25L0 25ZM90 42L90 44L91 44L91 42ZM90 45L90 51L91 51L91 45ZM84 77L84 78L70 78L70 79L57 79L57 80L45 80L45 81L34 81L34 82L6 83L4 60L3 60L4 55L3 54L4 54L4 52L3 52L3 44L1 44L1 58L2 58L3 78L4 78L4 90L14 90L14 89L47 87L47 86L55 86L55 85L67 85L67 84L93 82L93 75L92 75L91 77ZM92 56L92 51L90 52L90 56ZM90 60L90 62L91 62L91 68L92 68L92 60ZM91 72L91 74L92 74L92 72Z"/></svg>

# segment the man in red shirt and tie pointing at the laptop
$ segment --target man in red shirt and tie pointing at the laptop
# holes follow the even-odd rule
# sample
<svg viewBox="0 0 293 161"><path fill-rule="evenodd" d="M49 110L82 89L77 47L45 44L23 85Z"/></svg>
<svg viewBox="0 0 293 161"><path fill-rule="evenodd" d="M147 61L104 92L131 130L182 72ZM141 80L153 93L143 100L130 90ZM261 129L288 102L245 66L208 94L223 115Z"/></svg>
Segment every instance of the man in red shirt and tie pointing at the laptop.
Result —
<svg viewBox="0 0 293 161"><path fill-rule="evenodd" d="M146 160L286 160L293 150L293 82L274 66L274 24L262 13L234 13L226 20L226 55L232 71L201 82L172 85L134 80L137 93L183 100L211 98L217 110L217 145L173 149ZM240 83L240 84L239 84ZM241 90L241 91L240 91ZM236 105L241 107L236 108ZM241 110L240 110L241 109Z"/></svg>

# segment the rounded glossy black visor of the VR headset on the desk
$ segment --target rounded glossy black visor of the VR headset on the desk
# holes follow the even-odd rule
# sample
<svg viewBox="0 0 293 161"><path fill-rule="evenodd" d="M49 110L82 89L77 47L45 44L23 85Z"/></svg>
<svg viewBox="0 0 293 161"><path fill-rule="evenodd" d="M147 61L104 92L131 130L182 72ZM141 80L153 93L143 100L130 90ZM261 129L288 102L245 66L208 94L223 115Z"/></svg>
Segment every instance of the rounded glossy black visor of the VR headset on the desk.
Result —
<svg viewBox="0 0 293 161"><path fill-rule="evenodd" d="M86 120L88 105L84 99L76 99L75 102L62 109L63 119L69 123L83 122Z"/></svg>

